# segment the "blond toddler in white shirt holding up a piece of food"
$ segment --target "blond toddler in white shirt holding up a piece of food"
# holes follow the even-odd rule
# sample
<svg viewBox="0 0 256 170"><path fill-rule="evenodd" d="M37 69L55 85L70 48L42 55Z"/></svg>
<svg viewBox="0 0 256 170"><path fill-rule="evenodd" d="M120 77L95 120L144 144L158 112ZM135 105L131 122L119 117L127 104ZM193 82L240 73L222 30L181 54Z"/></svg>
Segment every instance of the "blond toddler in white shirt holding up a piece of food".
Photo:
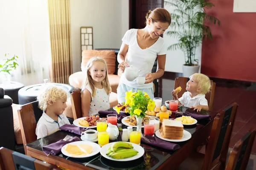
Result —
<svg viewBox="0 0 256 170"><path fill-rule="evenodd" d="M211 83L209 77L204 74L195 73L189 77L187 82L186 92L178 99L175 90L172 91L172 96L179 101L179 105L183 105L194 110L201 111L201 109L208 111L208 102L205 99L205 94L210 90Z"/></svg>

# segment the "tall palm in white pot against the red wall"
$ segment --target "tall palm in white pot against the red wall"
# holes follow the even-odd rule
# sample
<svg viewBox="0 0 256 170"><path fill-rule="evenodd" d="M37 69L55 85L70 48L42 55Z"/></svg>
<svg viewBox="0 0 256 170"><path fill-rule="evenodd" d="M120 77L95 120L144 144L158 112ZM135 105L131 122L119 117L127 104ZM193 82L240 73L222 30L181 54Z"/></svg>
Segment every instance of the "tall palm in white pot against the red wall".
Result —
<svg viewBox="0 0 256 170"><path fill-rule="evenodd" d="M198 73L200 65L195 56L196 48L204 38L212 40L212 33L209 26L204 25L205 21L220 26L220 21L214 16L207 15L205 9L214 6L208 0L169 0L166 5L174 8L171 12L172 31L167 34L178 40L177 43L168 47L168 50L180 49L185 55L183 65L184 77Z"/></svg>

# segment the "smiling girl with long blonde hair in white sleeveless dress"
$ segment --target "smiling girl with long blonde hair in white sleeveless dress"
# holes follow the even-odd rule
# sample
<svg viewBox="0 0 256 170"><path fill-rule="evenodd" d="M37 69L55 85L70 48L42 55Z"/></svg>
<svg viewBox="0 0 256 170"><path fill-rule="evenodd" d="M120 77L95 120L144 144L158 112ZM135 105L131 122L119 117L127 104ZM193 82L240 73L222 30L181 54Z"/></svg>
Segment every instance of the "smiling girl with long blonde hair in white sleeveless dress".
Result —
<svg viewBox="0 0 256 170"><path fill-rule="evenodd" d="M107 64L101 57L91 58L86 65L86 78L81 87L83 117L92 116L110 107L111 87L108 81Z"/></svg>

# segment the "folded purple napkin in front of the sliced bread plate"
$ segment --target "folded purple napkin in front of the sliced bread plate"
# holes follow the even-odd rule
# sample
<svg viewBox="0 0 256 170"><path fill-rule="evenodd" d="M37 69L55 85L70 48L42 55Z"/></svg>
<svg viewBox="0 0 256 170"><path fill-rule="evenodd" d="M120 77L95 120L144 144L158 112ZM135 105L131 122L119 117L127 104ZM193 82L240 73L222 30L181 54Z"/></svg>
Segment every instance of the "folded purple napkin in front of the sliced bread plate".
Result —
<svg viewBox="0 0 256 170"><path fill-rule="evenodd" d="M163 148L163 149L166 149L166 150L171 150L171 151L175 151L177 149L180 149L180 145L174 144L174 143L171 143L171 142L167 142L163 139L158 138L157 136L145 135L145 137L150 141L150 143L149 143L145 139L141 138L141 142L143 142L145 144L160 147L160 148Z"/></svg>

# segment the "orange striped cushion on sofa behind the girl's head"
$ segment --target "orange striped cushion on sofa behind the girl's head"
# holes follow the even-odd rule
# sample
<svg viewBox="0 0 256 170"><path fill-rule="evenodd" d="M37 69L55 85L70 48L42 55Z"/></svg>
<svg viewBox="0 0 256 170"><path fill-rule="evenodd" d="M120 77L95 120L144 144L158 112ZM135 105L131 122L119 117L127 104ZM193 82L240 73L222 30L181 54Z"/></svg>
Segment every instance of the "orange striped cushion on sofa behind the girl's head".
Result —
<svg viewBox="0 0 256 170"><path fill-rule="evenodd" d="M116 70L116 54L113 50L83 50L81 70L84 71L85 66L91 57L102 57L107 62L108 74L114 74Z"/></svg>

